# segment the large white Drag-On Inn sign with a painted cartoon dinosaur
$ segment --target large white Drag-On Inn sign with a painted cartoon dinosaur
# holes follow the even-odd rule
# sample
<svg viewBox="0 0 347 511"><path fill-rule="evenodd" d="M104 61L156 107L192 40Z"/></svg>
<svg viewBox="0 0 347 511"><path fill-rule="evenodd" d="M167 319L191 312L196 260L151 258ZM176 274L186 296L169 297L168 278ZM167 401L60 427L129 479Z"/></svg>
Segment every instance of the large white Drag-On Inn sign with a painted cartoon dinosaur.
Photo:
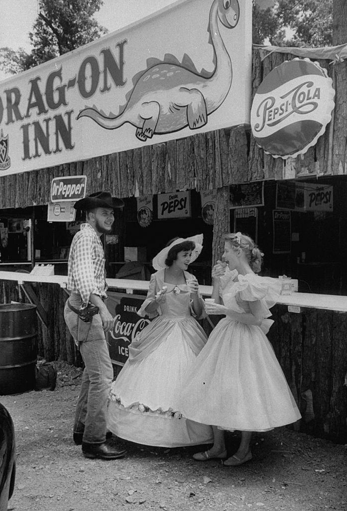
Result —
<svg viewBox="0 0 347 511"><path fill-rule="evenodd" d="M176 0L0 83L0 176L249 124L251 0Z"/></svg>

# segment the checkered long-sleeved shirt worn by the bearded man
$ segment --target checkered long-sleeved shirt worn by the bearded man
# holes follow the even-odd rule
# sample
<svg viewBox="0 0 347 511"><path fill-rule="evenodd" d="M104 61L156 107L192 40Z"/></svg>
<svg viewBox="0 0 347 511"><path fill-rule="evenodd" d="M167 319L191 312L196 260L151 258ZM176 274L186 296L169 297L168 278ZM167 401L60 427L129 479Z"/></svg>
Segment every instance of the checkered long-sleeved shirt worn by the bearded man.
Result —
<svg viewBox="0 0 347 511"><path fill-rule="evenodd" d="M102 243L93 227L82 224L73 237L67 266L67 287L79 293L85 305L91 294L107 298L105 281L105 257Z"/></svg>

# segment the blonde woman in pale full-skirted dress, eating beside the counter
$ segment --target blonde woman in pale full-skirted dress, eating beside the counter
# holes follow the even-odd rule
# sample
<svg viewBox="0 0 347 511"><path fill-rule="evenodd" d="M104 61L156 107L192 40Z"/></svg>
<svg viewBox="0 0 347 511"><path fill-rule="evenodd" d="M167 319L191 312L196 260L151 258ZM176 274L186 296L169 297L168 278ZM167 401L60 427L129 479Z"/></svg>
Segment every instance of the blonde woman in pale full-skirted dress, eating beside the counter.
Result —
<svg viewBox="0 0 347 511"><path fill-rule="evenodd" d="M225 236L223 257L212 269L215 303L207 314L224 314L198 355L181 393L181 412L190 420L213 426L211 449L198 461L226 458L223 430L241 431L237 452L224 461L237 466L252 459L252 431L290 424L301 415L266 338L270 308L280 294L279 282L256 275L263 254L241 233Z"/></svg>

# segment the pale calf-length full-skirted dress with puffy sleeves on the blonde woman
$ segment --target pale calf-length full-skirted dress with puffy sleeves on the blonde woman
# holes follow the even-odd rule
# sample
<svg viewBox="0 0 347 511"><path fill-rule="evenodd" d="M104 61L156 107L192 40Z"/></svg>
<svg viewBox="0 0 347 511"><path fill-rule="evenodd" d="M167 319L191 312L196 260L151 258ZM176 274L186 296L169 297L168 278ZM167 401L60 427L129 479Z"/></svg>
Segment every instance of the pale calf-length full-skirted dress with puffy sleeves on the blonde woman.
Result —
<svg viewBox="0 0 347 511"><path fill-rule="evenodd" d="M260 327L226 316L210 334L181 393L181 412L190 420L229 431L267 431L301 415L266 333L270 308L280 293L274 278L227 271L221 279L224 305L250 312L259 300Z"/></svg>

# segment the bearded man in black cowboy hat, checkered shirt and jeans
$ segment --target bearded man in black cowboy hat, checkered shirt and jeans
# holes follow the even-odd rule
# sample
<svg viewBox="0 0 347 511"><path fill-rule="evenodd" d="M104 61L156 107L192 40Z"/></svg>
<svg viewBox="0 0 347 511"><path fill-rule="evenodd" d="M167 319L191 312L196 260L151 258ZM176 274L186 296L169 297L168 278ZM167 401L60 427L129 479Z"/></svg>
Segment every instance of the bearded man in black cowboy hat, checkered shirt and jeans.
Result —
<svg viewBox="0 0 347 511"><path fill-rule="evenodd" d="M77 201L76 210L86 211L86 223L75 234L68 262L68 289L64 317L85 363L82 387L76 407L73 439L82 444L87 458L115 459L124 456L106 443L106 409L113 368L105 335L113 327L113 317L104 304L105 282L102 234L111 233L114 208L122 200L109 192L96 192Z"/></svg>

